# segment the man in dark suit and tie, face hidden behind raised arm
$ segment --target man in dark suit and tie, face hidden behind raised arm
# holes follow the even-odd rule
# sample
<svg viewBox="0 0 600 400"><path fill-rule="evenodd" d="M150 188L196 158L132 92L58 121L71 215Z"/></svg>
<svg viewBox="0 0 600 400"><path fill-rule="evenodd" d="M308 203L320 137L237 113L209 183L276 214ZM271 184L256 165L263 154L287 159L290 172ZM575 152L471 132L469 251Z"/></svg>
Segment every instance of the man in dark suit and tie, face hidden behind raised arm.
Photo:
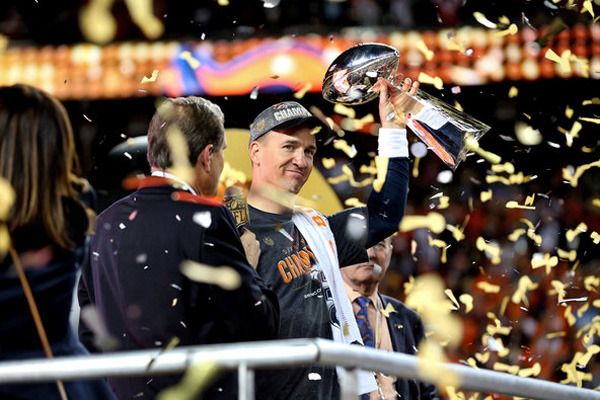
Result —
<svg viewBox="0 0 600 400"><path fill-rule="evenodd" d="M341 268L365 346L380 350L416 354L425 337L419 315L393 297L379 293L392 257L388 237L369 248L369 261ZM370 399L437 399L435 387L414 379L376 375L378 391Z"/></svg>

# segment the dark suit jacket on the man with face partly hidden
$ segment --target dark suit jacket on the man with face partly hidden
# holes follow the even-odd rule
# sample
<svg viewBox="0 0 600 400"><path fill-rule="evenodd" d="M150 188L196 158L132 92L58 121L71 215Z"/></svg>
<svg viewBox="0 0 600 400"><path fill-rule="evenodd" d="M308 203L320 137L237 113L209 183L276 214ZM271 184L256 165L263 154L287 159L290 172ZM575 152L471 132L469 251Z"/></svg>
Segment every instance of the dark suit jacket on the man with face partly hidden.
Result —
<svg viewBox="0 0 600 400"><path fill-rule="evenodd" d="M390 303L396 312L388 316L388 329L395 352L415 355L419 342L425 337L419 315L393 297L380 294L383 308ZM435 386L415 379L398 378L396 391L400 399L438 399Z"/></svg>

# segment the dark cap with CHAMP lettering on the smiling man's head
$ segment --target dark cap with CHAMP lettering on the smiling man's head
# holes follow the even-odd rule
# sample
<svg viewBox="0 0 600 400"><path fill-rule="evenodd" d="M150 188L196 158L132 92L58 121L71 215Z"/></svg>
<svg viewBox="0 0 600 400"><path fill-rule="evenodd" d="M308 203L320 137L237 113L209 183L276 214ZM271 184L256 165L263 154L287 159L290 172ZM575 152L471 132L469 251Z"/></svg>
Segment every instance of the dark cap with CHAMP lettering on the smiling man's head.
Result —
<svg viewBox="0 0 600 400"><path fill-rule="evenodd" d="M264 134L277 129L290 129L301 125L320 126L316 133L317 140L324 144L333 139L329 126L324 121L314 116L304 106L295 101L284 101L263 110L250 125L250 143Z"/></svg>

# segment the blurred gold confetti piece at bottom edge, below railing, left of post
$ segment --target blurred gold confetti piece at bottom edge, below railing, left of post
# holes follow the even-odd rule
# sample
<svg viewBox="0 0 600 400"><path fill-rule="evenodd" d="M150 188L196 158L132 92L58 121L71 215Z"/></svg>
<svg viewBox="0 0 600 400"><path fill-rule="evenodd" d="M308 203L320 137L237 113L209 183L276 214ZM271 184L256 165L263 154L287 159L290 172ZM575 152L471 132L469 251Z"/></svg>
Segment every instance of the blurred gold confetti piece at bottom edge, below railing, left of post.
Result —
<svg viewBox="0 0 600 400"><path fill-rule="evenodd" d="M158 400L191 400L200 394L214 381L221 367L214 361L206 360L192 364L177 385L161 391Z"/></svg>

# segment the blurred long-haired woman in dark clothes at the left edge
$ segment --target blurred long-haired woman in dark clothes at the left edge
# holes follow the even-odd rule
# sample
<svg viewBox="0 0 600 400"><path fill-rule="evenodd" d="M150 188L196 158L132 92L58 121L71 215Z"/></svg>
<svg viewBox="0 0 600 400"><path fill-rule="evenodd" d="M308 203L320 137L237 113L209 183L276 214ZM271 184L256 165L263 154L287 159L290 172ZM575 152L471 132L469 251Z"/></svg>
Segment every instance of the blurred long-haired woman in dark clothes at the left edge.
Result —
<svg viewBox="0 0 600 400"><path fill-rule="evenodd" d="M77 176L73 130L62 104L27 85L0 88L0 178L14 190L0 249L0 361L86 355L69 324L76 273L92 220ZM6 207L10 189L3 188ZM22 269L21 269L22 268ZM26 282L19 280L25 272ZM49 349L44 349L25 287L32 290ZM0 385L0 398L110 399L103 380Z"/></svg>

